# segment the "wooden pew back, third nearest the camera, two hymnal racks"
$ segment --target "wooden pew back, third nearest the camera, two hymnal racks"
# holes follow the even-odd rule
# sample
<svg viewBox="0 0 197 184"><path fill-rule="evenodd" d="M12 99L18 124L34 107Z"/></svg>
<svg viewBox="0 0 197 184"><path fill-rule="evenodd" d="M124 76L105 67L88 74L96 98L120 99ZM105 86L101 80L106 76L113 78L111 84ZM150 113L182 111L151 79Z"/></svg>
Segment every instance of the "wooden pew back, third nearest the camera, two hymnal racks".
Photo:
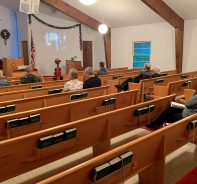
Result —
<svg viewBox="0 0 197 184"><path fill-rule="evenodd" d="M70 103L53 106L51 105L45 108L37 108L34 110L26 110L20 113L1 116L0 140L18 137L21 135L59 126L101 113L113 111L115 109L128 107L136 104L136 96L137 90L134 90L126 93L116 93L113 95L104 95L79 101L70 101ZM103 106L103 101L110 98L116 98L116 103ZM41 120L39 122L10 129L7 128L6 122L8 120L28 117L34 114L40 114ZM49 115L52 116L50 121Z"/></svg>

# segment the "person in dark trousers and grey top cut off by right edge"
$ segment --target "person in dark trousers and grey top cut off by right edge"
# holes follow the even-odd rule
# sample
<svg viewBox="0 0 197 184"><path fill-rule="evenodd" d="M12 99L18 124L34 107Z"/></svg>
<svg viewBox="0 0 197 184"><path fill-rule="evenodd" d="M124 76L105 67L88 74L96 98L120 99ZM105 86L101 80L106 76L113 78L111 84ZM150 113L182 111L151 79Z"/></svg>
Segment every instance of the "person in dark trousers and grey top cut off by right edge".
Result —
<svg viewBox="0 0 197 184"><path fill-rule="evenodd" d="M195 114L197 112L197 92L195 92L193 96L185 102L184 105L184 109L179 109L171 106L167 107L155 121L146 125L146 127L156 130L159 127L163 126L165 122L173 123L187 116Z"/></svg>

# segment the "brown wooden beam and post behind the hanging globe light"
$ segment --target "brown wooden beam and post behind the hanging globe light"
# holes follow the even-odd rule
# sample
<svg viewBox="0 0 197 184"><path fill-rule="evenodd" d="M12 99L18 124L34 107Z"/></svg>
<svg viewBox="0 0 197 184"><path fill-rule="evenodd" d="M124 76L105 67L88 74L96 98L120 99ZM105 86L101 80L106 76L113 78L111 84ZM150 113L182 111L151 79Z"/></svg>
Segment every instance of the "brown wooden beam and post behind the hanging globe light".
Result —
<svg viewBox="0 0 197 184"><path fill-rule="evenodd" d="M41 1L69 15L70 17L76 19L77 21L93 28L94 30L98 31L98 27L101 24L99 21L86 15L85 13L74 8L68 3L62 0L41 0ZM107 35L104 35L103 38L104 38L104 47L105 47L106 66L107 68L110 68L111 66L111 29L110 28L108 28L108 33Z"/></svg>

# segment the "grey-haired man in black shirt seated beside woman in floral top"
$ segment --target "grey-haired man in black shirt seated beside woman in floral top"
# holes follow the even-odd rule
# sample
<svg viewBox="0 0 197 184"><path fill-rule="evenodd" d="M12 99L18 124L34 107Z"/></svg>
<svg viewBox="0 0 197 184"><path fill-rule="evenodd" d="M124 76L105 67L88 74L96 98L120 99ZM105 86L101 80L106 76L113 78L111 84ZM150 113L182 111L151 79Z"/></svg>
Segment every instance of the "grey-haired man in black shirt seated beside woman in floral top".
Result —
<svg viewBox="0 0 197 184"><path fill-rule="evenodd" d="M94 88L101 86L101 79L94 75L92 67L87 67L84 70L84 83L83 89Z"/></svg>

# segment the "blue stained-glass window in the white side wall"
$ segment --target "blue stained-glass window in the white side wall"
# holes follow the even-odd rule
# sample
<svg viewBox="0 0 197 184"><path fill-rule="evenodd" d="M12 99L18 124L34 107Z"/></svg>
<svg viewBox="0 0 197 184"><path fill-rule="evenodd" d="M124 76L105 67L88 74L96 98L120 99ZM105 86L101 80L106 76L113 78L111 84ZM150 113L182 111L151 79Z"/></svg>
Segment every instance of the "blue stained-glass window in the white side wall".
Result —
<svg viewBox="0 0 197 184"><path fill-rule="evenodd" d="M142 68L150 62L151 42L133 43L133 68Z"/></svg>

